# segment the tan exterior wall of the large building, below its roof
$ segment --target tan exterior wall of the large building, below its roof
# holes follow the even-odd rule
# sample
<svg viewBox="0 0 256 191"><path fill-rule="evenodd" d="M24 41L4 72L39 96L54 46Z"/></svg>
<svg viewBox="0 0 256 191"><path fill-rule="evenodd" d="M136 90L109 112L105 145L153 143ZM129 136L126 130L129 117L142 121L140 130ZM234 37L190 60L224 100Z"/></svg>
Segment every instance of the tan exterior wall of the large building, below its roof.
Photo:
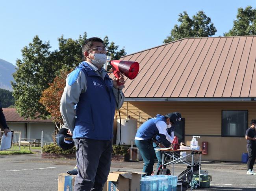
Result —
<svg viewBox="0 0 256 191"><path fill-rule="evenodd" d="M185 142L192 139L191 135L201 135L200 146L202 141L208 141L208 154L202 155L203 160L241 161L241 154L247 152L246 140L221 137L222 110L248 110L248 123L256 119L256 102L124 102L120 112L121 118L126 119L128 111L139 126L139 112L142 124L156 114L178 111L185 118Z"/></svg>

